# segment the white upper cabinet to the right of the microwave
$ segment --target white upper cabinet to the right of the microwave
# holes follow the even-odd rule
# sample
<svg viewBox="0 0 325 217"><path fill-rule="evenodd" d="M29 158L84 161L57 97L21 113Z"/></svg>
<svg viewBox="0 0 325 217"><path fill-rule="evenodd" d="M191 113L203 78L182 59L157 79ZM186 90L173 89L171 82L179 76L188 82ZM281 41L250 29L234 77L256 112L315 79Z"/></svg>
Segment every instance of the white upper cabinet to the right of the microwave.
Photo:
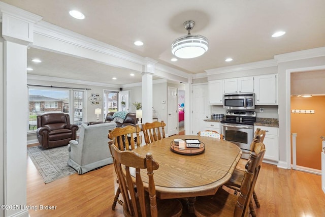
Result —
<svg viewBox="0 0 325 217"><path fill-rule="evenodd" d="M278 105L277 83L277 74L255 76L255 105Z"/></svg>

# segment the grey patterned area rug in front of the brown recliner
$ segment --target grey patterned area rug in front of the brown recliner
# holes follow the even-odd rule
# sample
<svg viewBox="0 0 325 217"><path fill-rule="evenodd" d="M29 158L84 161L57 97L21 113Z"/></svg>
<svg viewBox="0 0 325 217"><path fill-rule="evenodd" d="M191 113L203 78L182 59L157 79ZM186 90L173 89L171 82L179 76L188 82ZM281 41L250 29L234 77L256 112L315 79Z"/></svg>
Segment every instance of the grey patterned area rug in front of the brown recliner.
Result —
<svg viewBox="0 0 325 217"><path fill-rule="evenodd" d="M27 148L27 154L41 174L45 183L72 175L77 171L68 166L67 146L43 149L42 146Z"/></svg>

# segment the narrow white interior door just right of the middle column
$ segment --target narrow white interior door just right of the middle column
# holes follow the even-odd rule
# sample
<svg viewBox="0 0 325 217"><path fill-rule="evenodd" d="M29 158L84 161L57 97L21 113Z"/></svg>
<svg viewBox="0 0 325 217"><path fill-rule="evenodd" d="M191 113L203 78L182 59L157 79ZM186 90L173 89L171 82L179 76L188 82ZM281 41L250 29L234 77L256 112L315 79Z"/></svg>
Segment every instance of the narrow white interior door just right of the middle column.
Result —
<svg viewBox="0 0 325 217"><path fill-rule="evenodd" d="M167 87L167 132L168 136L178 133L177 88Z"/></svg>

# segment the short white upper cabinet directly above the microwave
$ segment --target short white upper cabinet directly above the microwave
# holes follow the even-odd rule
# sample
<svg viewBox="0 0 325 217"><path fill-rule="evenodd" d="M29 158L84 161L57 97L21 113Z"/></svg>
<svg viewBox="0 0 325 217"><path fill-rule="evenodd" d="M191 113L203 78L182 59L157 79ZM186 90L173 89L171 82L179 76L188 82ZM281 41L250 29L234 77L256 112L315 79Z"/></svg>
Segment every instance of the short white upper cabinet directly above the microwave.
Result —
<svg viewBox="0 0 325 217"><path fill-rule="evenodd" d="M254 77L240 77L224 80L225 94L254 92Z"/></svg>

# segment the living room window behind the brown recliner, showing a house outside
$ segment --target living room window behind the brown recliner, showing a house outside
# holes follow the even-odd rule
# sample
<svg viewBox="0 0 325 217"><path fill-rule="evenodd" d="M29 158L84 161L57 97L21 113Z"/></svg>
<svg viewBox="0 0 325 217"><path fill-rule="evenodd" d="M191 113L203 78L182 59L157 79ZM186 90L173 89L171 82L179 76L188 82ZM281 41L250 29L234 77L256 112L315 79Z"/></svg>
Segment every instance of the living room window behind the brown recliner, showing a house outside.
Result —
<svg viewBox="0 0 325 217"><path fill-rule="evenodd" d="M81 125L84 121L85 90L28 86L28 131L36 131L37 115L66 113L70 121Z"/></svg>

